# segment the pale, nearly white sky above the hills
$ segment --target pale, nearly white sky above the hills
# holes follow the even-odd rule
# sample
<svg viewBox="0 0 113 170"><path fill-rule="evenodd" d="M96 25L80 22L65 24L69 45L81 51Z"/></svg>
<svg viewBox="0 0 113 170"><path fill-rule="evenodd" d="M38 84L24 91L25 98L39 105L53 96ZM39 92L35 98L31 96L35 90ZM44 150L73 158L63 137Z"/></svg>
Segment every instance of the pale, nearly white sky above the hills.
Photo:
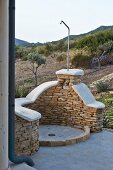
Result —
<svg viewBox="0 0 113 170"><path fill-rule="evenodd" d="M113 25L113 0L16 0L16 38L28 42L56 41L68 35Z"/></svg>

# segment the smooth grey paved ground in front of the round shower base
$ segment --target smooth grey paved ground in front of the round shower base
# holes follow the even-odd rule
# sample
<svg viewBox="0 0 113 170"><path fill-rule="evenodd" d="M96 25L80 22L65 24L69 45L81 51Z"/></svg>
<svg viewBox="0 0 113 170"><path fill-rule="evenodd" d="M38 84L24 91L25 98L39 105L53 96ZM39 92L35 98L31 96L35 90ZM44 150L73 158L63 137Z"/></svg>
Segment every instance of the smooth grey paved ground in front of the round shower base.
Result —
<svg viewBox="0 0 113 170"><path fill-rule="evenodd" d="M113 133L95 133L74 145L40 147L31 157L37 170L113 170Z"/></svg>

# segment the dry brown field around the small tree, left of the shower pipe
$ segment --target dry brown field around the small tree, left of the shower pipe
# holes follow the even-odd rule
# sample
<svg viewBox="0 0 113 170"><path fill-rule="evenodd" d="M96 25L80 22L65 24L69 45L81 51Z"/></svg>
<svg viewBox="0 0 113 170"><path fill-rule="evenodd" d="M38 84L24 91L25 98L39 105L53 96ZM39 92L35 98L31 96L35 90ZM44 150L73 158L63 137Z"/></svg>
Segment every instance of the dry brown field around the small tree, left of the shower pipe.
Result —
<svg viewBox="0 0 113 170"><path fill-rule="evenodd" d="M30 62L17 60L16 66L16 84L23 84L25 82L33 81L33 74L29 69ZM38 84L45 81L55 80L55 72L59 69L66 68L65 62L57 62L55 58L48 57L45 65L41 65L38 69Z"/></svg>

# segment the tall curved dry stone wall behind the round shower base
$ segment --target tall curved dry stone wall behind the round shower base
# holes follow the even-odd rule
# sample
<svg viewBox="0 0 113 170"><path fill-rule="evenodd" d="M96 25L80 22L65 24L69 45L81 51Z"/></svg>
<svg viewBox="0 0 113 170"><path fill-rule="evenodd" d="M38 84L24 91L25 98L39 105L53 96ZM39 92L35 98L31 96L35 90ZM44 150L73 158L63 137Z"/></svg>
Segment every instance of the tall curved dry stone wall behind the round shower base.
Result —
<svg viewBox="0 0 113 170"><path fill-rule="evenodd" d="M89 126L92 132L102 130L102 109L84 105L72 88L80 79L70 75L58 75L58 85L41 94L26 107L41 113L41 124Z"/></svg>

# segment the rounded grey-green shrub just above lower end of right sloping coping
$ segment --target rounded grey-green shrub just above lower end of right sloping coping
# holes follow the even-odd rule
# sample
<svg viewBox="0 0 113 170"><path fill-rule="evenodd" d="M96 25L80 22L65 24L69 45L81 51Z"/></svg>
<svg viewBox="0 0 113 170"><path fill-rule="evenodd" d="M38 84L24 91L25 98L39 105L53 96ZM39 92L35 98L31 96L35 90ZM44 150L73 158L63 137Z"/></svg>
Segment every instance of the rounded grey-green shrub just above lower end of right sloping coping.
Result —
<svg viewBox="0 0 113 170"><path fill-rule="evenodd" d="M107 91L108 87L109 87L109 84L103 81L100 81L96 84L98 93Z"/></svg>

